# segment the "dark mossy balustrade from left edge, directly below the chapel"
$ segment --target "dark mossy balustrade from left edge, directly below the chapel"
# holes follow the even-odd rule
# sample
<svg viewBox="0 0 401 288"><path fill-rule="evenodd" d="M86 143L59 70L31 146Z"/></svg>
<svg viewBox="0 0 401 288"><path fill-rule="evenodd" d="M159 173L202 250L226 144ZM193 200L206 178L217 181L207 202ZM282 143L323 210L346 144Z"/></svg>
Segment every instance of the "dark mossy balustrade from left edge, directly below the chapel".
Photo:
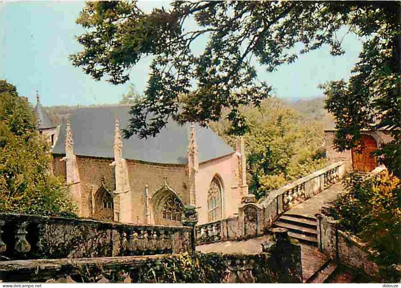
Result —
<svg viewBox="0 0 401 288"><path fill-rule="evenodd" d="M0 213L0 258L92 258L190 252L191 229Z"/></svg>

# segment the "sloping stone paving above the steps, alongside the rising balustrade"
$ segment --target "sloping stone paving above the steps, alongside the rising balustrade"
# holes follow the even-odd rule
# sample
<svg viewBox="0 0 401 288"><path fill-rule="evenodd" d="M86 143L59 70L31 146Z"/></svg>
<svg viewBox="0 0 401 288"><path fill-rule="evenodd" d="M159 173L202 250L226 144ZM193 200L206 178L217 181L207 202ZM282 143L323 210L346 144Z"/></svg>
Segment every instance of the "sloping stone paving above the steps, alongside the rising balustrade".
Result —
<svg viewBox="0 0 401 288"><path fill-rule="evenodd" d="M296 205L294 208L286 211L284 214L295 214L304 215L309 217L315 217L315 214L319 212L320 208L325 203L336 199L337 195L342 193L344 186L342 182L337 182L334 185L328 187L328 189L316 194L314 197Z"/></svg>

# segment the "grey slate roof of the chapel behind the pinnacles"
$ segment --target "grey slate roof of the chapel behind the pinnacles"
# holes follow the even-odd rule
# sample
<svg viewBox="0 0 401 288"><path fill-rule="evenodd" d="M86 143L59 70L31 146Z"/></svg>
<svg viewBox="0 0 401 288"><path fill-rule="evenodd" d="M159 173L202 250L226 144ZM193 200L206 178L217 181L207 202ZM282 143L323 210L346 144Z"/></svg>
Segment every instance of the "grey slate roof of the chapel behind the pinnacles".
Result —
<svg viewBox="0 0 401 288"><path fill-rule="evenodd" d="M71 115L71 131L75 155L114 158L115 119L119 128L127 127L130 115L128 106L81 108ZM186 164L190 124L180 126L170 120L167 127L148 139L133 135L123 139L123 158L152 163ZM65 154L66 123L53 148L54 154ZM195 125L199 163L233 153L233 149L209 128Z"/></svg>

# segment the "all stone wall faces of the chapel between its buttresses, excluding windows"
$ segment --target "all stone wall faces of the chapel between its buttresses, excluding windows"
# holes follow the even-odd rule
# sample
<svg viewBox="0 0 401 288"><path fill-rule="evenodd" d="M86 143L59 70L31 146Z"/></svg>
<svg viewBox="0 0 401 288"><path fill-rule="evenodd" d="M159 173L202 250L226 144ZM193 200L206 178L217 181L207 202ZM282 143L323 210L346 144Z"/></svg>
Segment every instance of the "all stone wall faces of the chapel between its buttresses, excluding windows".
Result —
<svg viewBox="0 0 401 288"><path fill-rule="evenodd" d="M77 166L81 180L81 217L92 218L91 186L96 192L101 187L101 177L111 191L115 187L114 167L109 166L113 159L85 157L77 155ZM53 157L53 171L55 175L66 174L65 161L60 161L63 155ZM196 182L196 206L200 207L199 222L208 222L207 216L207 192L215 175L219 175L223 185L223 218L227 218L238 212L241 201L239 192L239 167L238 157L230 154L219 159L213 159L199 165ZM152 196L164 184L167 177L169 187L178 195L184 205L189 204L188 170L186 165L158 165L127 160L128 181L132 199L133 223L145 223L145 186L148 185L149 204ZM118 209L115 203L114 209ZM150 205L149 212L150 213ZM125 207L124 207L125 208ZM121 209L119 213L124 213ZM167 224L167 223L164 223Z"/></svg>

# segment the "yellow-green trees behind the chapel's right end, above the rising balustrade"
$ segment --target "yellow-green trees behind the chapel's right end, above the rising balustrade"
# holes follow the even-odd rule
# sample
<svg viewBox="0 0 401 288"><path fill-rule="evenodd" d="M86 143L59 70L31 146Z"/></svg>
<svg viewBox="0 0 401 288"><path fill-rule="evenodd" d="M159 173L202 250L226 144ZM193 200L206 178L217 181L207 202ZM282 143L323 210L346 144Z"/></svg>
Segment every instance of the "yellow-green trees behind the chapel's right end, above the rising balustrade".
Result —
<svg viewBox="0 0 401 288"><path fill-rule="evenodd" d="M304 119L277 98L266 99L259 109L241 107L240 111L251 127L244 135L247 180L249 191L257 199L326 165L319 122ZM227 120L210 127L235 147Z"/></svg>

